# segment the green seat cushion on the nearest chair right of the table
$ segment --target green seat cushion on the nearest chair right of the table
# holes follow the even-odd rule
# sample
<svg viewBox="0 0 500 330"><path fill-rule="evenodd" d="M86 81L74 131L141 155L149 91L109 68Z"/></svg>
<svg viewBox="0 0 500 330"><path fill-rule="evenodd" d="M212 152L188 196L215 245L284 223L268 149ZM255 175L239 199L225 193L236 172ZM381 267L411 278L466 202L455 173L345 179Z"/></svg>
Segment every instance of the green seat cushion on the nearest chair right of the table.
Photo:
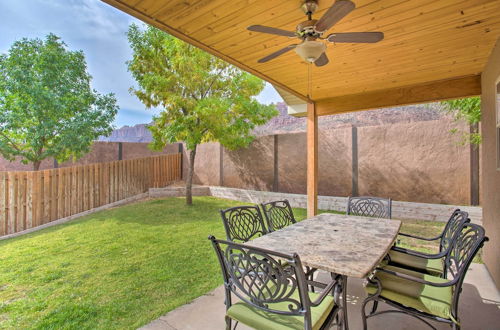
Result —
<svg viewBox="0 0 500 330"><path fill-rule="evenodd" d="M397 271L413 277L419 277L429 282L445 283L447 279L414 272L404 268L386 266L384 269ZM435 287L406 280L388 273L378 272L377 278L382 284L380 295L407 307L421 312L451 319L451 304L453 299L453 287ZM368 294L377 292L376 285L366 286Z"/></svg>

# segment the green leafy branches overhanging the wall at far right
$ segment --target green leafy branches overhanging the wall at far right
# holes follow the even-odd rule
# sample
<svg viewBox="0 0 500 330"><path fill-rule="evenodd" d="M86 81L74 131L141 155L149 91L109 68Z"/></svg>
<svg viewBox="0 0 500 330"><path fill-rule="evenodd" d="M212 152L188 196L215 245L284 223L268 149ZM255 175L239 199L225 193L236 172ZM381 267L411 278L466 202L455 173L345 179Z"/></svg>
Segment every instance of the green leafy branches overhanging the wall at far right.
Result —
<svg viewBox="0 0 500 330"><path fill-rule="evenodd" d="M467 97L462 99L448 100L441 102L444 111L453 115L455 120L465 120L472 125L471 132L461 132L462 144L481 144L481 133L478 124L481 121L481 98ZM451 131L454 134L460 133L458 129Z"/></svg>

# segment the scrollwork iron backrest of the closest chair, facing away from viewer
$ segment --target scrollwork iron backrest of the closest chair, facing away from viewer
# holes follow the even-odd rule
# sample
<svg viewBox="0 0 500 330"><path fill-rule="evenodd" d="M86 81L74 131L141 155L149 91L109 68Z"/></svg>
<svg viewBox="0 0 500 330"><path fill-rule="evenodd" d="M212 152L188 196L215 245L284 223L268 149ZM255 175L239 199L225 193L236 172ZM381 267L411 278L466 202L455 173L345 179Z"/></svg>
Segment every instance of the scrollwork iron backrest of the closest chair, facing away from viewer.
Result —
<svg viewBox="0 0 500 330"><path fill-rule="evenodd" d="M226 295L233 293L245 303L267 312L304 316L307 322L310 302L297 255L209 238L223 270ZM230 307L230 301L229 298L226 308ZM275 303L286 303L288 310L273 308Z"/></svg>

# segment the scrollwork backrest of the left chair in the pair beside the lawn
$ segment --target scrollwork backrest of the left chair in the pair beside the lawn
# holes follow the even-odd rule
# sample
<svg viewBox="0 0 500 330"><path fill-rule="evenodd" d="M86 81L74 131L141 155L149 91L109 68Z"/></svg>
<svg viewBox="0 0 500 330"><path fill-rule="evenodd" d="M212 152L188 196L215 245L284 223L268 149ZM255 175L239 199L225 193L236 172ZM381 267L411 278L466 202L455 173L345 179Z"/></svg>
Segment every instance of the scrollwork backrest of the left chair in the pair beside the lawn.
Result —
<svg viewBox="0 0 500 330"><path fill-rule="evenodd" d="M248 242L267 233L257 205L231 207L221 210L220 214L230 241Z"/></svg>

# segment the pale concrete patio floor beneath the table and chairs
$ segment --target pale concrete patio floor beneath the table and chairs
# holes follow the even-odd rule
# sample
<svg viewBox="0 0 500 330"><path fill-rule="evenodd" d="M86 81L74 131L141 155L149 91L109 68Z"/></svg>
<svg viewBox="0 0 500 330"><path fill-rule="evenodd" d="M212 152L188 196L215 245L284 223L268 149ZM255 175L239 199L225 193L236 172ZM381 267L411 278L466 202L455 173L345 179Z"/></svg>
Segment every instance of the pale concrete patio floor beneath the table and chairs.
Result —
<svg viewBox="0 0 500 330"><path fill-rule="evenodd" d="M328 276L320 273L321 277ZM362 280L348 280L349 328L362 329L361 303L366 297ZM500 293L486 267L473 264L469 269L460 298L459 316L464 330L500 329ZM381 304L379 310L388 309ZM224 290L222 286L181 306L142 327L143 330L224 329ZM450 329L443 323L431 322L437 329ZM421 321L404 314L384 314L368 319L368 328L378 329L429 329ZM238 325L237 329L248 329Z"/></svg>

